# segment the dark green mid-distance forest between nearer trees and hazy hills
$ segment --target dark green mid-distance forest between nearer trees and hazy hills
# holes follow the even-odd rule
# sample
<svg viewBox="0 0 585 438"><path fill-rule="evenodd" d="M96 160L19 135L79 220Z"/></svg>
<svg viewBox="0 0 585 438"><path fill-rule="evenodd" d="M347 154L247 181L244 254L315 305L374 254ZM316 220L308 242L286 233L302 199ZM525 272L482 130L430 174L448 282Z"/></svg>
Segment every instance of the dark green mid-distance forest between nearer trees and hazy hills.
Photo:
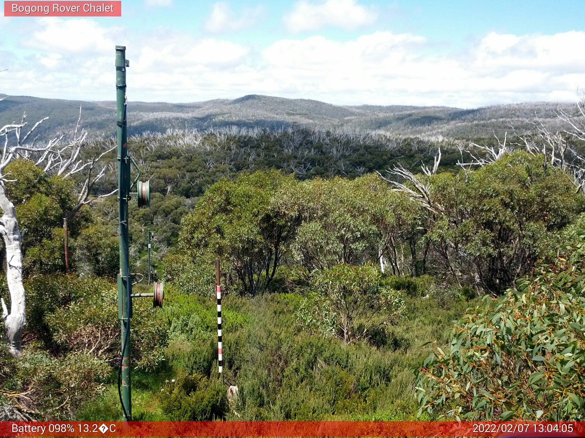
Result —
<svg viewBox="0 0 585 438"><path fill-rule="evenodd" d="M104 142L94 149L101 150ZM113 143L112 143L113 144ZM491 144L491 140L488 140ZM107 147L110 143L105 142ZM146 240L144 230L154 232L154 250L162 259L178 242L181 218L197 203L205 190L222 178L233 179L255 171L278 169L283 175L294 174L299 180L344 176L350 179L396 164L414 171L432 161L437 147L443 151L442 170L456 168L461 157L455 142L432 142L419 138L400 138L374 133L333 133L307 128L290 130L240 130L226 128L209 131L177 131L170 135L147 134L129 139L129 148L142 166L144 179L152 187L151 207L140 210L130 204L130 234L133 260L139 260L134 272L143 272ZM98 193L115 189L115 160L105 160L109 173L99 182ZM97 242L108 225L117 228L118 204L115 197L98 201L99 221L84 241ZM87 248L87 245L85 246ZM89 247L91 248L91 246ZM108 258L109 249L95 246L85 253L84 270L91 269L88 258ZM117 269L114 263L113 269Z"/></svg>

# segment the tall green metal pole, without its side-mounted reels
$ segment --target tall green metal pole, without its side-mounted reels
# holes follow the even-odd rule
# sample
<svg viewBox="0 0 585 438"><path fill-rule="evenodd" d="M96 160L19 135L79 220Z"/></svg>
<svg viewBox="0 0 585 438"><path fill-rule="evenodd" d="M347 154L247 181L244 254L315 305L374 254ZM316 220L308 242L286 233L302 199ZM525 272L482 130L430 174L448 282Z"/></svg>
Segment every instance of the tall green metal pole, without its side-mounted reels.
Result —
<svg viewBox="0 0 585 438"><path fill-rule="evenodd" d="M130 160L126 136L126 47L116 46L116 113L118 136L118 199L120 221L120 274L118 275L118 317L122 329L121 387L124 420L132 420L132 396L130 391L130 317L132 300L128 300L128 284L132 281L128 266L128 200L130 197ZM128 305L130 304L130 305Z"/></svg>

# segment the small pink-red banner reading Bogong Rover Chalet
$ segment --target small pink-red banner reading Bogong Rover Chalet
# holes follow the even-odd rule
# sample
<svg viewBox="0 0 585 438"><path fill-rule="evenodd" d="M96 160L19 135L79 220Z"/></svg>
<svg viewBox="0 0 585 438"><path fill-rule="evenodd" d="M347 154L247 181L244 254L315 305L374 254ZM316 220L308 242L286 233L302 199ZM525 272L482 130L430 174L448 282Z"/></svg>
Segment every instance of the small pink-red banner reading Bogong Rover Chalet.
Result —
<svg viewBox="0 0 585 438"><path fill-rule="evenodd" d="M122 1L5 1L5 17L121 17Z"/></svg>

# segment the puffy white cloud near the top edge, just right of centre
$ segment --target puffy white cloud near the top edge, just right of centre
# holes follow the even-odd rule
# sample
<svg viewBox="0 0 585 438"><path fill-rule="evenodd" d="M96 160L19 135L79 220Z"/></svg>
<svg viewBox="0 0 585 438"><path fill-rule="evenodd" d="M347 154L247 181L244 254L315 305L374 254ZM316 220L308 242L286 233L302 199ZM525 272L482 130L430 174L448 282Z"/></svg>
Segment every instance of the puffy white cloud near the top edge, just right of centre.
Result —
<svg viewBox="0 0 585 438"><path fill-rule="evenodd" d="M356 0L299 0L285 16L288 30L302 32L325 26L338 26L353 30L371 25L377 13L373 8L357 4Z"/></svg>

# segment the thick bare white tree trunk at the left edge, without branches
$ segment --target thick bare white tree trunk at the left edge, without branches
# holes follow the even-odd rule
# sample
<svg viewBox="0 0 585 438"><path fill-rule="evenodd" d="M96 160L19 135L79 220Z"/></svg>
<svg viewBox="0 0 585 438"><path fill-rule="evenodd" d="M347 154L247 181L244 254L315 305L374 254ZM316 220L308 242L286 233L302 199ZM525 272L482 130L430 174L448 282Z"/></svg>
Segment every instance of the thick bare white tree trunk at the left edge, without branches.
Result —
<svg viewBox="0 0 585 438"><path fill-rule="evenodd" d="M4 183L0 182L0 233L6 247L6 282L10 291L10 313L2 299L2 319L4 319L4 338L9 350L15 357L20 356L20 339L26 324L25 287L22 284L22 236L16 220L14 204L6 197Z"/></svg>

